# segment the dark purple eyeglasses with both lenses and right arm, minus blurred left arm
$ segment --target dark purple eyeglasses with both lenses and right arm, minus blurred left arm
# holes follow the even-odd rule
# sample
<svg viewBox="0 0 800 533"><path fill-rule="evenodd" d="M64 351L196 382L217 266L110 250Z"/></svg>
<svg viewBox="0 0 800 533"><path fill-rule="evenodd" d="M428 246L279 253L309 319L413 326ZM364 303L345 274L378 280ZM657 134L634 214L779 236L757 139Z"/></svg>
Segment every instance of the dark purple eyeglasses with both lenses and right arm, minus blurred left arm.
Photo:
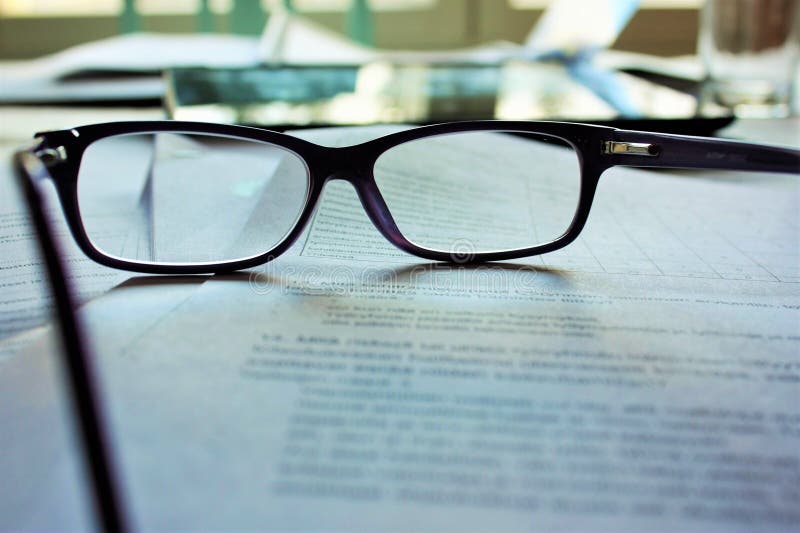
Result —
<svg viewBox="0 0 800 533"><path fill-rule="evenodd" d="M39 134L18 161L30 179L52 179L86 255L156 274L274 259L301 235L330 180L354 187L396 247L467 263L568 245L613 166L800 171L800 151L786 148L507 121L424 126L345 147L244 126L94 124Z"/></svg>

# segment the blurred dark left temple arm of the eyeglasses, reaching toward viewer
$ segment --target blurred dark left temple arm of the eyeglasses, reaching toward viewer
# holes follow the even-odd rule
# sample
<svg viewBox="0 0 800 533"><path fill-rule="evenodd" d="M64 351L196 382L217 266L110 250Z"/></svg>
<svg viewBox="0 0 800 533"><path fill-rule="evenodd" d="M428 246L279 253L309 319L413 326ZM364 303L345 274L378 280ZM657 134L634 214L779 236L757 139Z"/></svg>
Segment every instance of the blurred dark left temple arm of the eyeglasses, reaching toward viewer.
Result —
<svg viewBox="0 0 800 533"><path fill-rule="evenodd" d="M73 311L74 299L65 277L53 228L44 214L40 186L49 175L32 150L15 153L13 167L36 230L53 293L56 323L63 342L61 353L65 356L64 366L71 389L72 407L82 437L84 465L92 484L97 525L102 531L127 531L130 528L120 500L122 491L112 463L109 432L100 404L95 369L88 356L78 317Z"/></svg>

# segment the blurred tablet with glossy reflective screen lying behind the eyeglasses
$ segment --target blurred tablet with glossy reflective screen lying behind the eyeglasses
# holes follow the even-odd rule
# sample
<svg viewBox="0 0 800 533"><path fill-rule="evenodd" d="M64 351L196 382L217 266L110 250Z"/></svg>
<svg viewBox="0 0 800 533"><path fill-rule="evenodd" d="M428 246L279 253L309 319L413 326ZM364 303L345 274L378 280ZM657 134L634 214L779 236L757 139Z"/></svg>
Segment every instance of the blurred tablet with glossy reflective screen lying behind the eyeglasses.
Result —
<svg viewBox="0 0 800 533"><path fill-rule="evenodd" d="M701 112L691 84L559 62L181 68L166 81L173 119L272 129L499 119L710 135L733 120Z"/></svg>

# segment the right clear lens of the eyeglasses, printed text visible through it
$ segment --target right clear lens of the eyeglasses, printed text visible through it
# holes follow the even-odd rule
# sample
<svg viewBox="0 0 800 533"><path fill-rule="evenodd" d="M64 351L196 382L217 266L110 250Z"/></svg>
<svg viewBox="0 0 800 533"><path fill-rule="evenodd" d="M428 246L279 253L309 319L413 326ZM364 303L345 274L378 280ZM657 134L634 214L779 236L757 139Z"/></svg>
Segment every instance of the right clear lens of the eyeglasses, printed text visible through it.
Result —
<svg viewBox="0 0 800 533"><path fill-rule="evenodd" d="M460 256L556 240L569 229L581 192L571 145L511 131L407 142L383 153L374 174L406 239Z"/></svg>

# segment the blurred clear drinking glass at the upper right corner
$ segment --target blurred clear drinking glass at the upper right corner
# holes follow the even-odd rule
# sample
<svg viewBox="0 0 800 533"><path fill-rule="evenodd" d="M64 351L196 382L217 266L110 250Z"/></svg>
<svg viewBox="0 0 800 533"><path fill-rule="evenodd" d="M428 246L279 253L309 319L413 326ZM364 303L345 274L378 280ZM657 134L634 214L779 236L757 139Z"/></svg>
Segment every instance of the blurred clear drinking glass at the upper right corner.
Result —
<svg viewBox="0 0 800 533"><path fill-rule="evenodd" d="M743 117L791 112L800 44L798 0L707 0L698 48L706 69L704 104Z"/></svg>

